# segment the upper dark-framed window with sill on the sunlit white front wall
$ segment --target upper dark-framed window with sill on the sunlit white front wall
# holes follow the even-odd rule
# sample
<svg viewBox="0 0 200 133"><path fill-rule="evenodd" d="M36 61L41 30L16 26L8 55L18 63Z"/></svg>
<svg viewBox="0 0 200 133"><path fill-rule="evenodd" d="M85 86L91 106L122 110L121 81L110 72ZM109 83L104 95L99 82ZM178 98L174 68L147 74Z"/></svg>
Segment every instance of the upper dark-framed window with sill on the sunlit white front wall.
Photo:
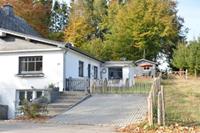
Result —
<svg viewBox="0 0 200 133"><path fill-rule="evenodd" d="M42 56L19 57L19 74L42 73Z"/></svg>

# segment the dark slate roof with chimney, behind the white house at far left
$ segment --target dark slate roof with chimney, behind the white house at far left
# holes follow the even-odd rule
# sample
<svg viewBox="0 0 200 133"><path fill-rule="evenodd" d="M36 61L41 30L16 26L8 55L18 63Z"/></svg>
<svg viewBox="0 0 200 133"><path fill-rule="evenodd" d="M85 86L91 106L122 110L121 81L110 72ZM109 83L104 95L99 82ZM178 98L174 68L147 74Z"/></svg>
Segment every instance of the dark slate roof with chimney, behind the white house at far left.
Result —
<svg viewBox="0 0 200 133"><path fill-rule="evenodd" d="M24 19L14 14L13 7L10 5L4 5L0 8L0 28L27 35L40 36Z"/></svg>

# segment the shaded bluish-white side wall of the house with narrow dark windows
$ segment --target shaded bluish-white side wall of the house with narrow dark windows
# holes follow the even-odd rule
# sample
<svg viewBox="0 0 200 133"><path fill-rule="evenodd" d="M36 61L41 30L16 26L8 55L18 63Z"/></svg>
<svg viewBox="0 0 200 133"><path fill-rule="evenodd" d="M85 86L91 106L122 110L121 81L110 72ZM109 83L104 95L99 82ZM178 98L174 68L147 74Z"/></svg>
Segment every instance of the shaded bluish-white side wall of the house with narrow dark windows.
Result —
<svg viewBox="0 0 200 133"><path fill-rule="evenodd" d="M65 54L65 78L82 78L79 77L79 61L84 62L84 77L88 78L88 64L91 64L91 79L94 78L94 66L98 67L98 79L100 79L100 66L101 62L94 60L92 58L89 58L83 54L80 54L78 52L69 50Z"/></svg>

